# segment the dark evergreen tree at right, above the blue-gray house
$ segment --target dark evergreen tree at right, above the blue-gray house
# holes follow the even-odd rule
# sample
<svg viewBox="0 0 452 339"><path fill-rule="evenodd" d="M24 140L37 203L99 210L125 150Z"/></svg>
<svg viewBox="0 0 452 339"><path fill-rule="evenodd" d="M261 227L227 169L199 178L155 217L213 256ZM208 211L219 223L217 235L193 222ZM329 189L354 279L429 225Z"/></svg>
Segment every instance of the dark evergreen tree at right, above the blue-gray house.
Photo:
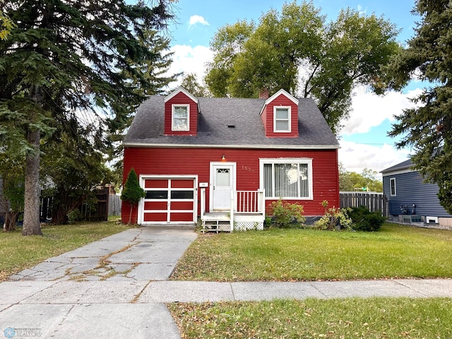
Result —
<svg viewBox="0 0 452 339"><path fill-rule="evenodd" d="M406 109L390 136L402 136L398 148L410 146L416 169L427 182L439 185L439 201L452 213L452 2L417 0L414 13L421 16L415 36L396 56L389 69L393 87L403 88L416 77L431 85Z"/></svg>

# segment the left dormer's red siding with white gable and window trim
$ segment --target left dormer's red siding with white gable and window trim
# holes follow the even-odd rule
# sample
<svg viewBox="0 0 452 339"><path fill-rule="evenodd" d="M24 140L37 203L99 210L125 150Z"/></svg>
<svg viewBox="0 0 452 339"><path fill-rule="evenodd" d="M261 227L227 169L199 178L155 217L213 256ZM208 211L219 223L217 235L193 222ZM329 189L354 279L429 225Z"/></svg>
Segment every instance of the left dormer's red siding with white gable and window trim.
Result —
<svg viewBox="0 0 452 339"><path fill-rule="evenodd" d="M188 107L188 130L178 130L173 124L174 107ZM165 97L165 136L196 136L198 131L198 100L184 88Z"/></svg>

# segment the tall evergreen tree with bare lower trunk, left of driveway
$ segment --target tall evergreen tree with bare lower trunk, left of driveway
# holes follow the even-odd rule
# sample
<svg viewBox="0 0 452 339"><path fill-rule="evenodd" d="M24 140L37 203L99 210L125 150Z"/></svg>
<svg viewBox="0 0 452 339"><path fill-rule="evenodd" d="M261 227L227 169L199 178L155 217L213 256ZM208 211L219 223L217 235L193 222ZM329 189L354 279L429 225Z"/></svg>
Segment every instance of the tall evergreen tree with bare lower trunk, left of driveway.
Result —
<svg viewBox="0 0 452 339"><path fill-rule="evenodd" d="M58 127L95 119L124 129L151 84L136 64L155 60L142 41L171 18L170 0L7 0L16 27L0 40L0 143L26 157L23 234L40 230L40 145ZM93 129L91 129L93 131ZM102 133L102 132L100 132ZM90 137L97 137L93 133ZM102 138L97 138L102 141Z"/></svg>

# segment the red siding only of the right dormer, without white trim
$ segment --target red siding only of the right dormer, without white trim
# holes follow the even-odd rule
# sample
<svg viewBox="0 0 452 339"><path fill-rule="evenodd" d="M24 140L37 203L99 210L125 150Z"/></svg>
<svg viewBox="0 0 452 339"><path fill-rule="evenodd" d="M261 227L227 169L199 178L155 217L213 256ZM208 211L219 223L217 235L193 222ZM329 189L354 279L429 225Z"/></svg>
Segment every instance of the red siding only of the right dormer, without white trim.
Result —
<svg viewBox="0 0 452 339"><path fill-rule="evenodd" d="M278 106L290 106L291 117L290 117L290 133L275 133L273 132L273 108ZM263 126L266 131L266 136L270 138L294 138L298 136L298 105L290 100L283 94L275 97L266 107L264 107L262 112Z"/></svg>

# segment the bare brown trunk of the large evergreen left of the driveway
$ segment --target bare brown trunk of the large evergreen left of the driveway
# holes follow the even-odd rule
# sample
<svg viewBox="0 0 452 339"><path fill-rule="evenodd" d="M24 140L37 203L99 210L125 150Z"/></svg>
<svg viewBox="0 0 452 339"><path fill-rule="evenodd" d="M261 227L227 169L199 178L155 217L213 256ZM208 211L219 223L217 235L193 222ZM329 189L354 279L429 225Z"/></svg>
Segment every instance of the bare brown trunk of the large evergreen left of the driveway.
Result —
<svg viewBox="0 0 452 339"><path fill-rule="evenodd" d="M28 132L33 151L25 165L25 199L22 235L42 235L40 225L40 131Z"/></svg>

